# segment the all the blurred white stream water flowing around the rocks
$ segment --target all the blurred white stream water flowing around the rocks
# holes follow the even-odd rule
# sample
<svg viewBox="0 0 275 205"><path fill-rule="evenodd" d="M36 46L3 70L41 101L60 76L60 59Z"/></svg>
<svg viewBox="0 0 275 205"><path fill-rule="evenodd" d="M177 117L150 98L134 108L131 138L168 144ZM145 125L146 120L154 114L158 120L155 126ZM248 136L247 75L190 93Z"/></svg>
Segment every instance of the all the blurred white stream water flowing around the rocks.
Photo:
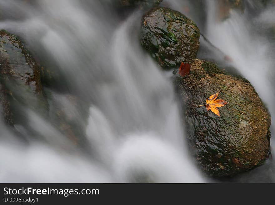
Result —
<svg viewBox="0 0 275 205"><path fill-rule="evenodd" d="M204 2L202 17L193 3L163 0L162 5L193 19L232 58L225 66L236 67L275 116L275 43L265 32L275 24L274 9L255 12L254 2L247 1L250 10L232 11L217 22L215 1ZM161 71L139 45L141 11L122 14L107 0L0 0L0 8L0 28L20 36L62 76L57 83L62 88L45 86L50 113L62 107L78 121L84 138L76 146L51 115L24 108L32 131L0 122L1 182L212 182L188 155L172 74ZM198 58L223 62L221 52L204 52L213 48L202 38L200 43ZM268 159L230 181L274 182L274 164Z"/></svg>

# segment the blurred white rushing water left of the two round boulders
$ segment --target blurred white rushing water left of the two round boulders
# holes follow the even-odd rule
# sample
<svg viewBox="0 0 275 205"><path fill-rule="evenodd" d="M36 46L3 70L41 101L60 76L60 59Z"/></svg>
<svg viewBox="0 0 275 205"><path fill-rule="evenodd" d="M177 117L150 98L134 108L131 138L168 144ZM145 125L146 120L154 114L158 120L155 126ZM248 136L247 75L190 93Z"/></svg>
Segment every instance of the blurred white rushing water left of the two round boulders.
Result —
<svg viewBox="0 0 275 205"><path fill-rule="evenodd" d="M121 21L108 1L32 2L1 0L7 17L0 27L54 61L69 90L91 102L86 122L65 95L52 94L83 121L91 153L26 108L43 140L16 125L29 139L22 143L1 122L0 181L203 182L187 153L172 84L139 45L141 13Z"/></svg>

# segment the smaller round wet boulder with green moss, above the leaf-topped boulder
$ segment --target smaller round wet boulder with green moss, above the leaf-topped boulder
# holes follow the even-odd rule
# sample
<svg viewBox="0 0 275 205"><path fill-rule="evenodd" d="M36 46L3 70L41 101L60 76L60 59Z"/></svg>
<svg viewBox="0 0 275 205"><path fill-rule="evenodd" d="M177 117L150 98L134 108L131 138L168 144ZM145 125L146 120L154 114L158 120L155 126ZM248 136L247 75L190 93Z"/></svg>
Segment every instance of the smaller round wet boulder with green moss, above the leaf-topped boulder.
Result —
<svg viewBox="0 0 275 205"><path fill-rule="evenodd" d="M153 8L142 18L141 44L163 68L195 59L199 38L196 24L169 8Z"/></svg>

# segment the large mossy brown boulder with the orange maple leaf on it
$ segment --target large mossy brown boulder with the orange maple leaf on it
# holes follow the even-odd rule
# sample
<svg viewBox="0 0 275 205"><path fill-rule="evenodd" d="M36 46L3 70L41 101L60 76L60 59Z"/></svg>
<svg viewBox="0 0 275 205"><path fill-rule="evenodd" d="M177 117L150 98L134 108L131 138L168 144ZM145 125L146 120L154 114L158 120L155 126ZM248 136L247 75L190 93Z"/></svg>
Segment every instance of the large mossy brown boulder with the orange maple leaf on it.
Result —
<svg viewBox="0 0 275 205"><path fill-rule="evenodd" d="M270 154L270 114L246 79L194 60L190 74L174 78L182 102L191 150L212 176L232 176L262 164ZM220 117L207 111L206 99L219 92Z"/></svg>

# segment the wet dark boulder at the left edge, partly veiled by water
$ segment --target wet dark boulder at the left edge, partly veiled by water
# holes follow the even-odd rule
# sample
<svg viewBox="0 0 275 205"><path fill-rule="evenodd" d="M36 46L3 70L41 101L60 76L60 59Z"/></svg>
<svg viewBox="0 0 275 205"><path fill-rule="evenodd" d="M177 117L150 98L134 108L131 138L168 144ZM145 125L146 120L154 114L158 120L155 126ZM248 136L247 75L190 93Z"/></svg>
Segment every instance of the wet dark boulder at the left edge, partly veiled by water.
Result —
<svg viewBox="0 0 275 205"><path fill-rule="evenodd" d="M8 124L19 123L26 107L47 110L36 62L19 38L5 30L0 31L0 65L0 106Z"/></svg>

